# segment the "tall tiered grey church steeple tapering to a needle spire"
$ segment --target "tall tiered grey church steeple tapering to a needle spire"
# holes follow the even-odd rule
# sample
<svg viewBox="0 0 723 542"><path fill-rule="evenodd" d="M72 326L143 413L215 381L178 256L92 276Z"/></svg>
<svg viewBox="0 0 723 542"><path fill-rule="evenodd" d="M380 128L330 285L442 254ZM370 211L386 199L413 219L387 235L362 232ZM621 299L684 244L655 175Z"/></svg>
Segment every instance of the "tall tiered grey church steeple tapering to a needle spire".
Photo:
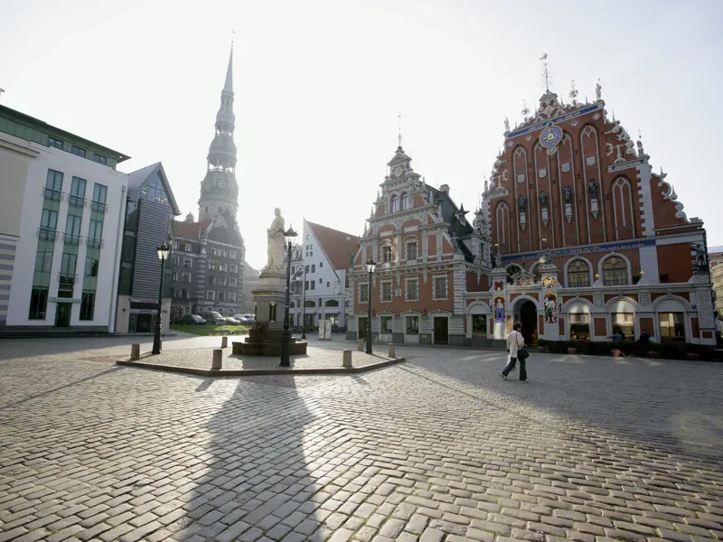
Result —
<svg viewBox="0 0 723 542"><path fill-rule="evenodd" d="M221 107L216 114L215 135L209 147L208 169L201 183L198 201L199 220L212 220L224 210L236 217L239 185L236 182L236 145L233 143L233 45L221 90Z"/></svg>

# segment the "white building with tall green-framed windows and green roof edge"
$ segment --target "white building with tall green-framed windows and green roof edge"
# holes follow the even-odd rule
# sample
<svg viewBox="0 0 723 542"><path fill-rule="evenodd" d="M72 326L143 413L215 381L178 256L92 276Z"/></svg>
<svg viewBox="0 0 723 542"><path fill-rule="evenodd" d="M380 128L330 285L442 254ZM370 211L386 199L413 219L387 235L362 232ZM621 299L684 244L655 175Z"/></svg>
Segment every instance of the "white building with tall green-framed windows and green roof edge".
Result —
<svg viewBox="0 0 723 542"><path fill-rule="evenodd" d="M5 331L113 331L127 158L0 106Z"/></svg>

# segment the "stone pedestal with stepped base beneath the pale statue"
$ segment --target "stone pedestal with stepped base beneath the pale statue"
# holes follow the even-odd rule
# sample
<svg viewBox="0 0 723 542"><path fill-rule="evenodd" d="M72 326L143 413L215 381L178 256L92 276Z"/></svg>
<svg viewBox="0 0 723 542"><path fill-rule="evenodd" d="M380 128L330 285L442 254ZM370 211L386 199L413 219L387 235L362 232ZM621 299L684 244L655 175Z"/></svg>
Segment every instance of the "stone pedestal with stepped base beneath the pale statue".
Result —
<svg viewBox="0 0 723 542"><path fill-rule="evenodd" d="M251 292L256 308L256 322L243 342L233 342L233 353L247 356L280 356L286 308L286 275L264 271L258 277L258 290ZM306 341L291 337L289 354L306 353Z"/></svg>

